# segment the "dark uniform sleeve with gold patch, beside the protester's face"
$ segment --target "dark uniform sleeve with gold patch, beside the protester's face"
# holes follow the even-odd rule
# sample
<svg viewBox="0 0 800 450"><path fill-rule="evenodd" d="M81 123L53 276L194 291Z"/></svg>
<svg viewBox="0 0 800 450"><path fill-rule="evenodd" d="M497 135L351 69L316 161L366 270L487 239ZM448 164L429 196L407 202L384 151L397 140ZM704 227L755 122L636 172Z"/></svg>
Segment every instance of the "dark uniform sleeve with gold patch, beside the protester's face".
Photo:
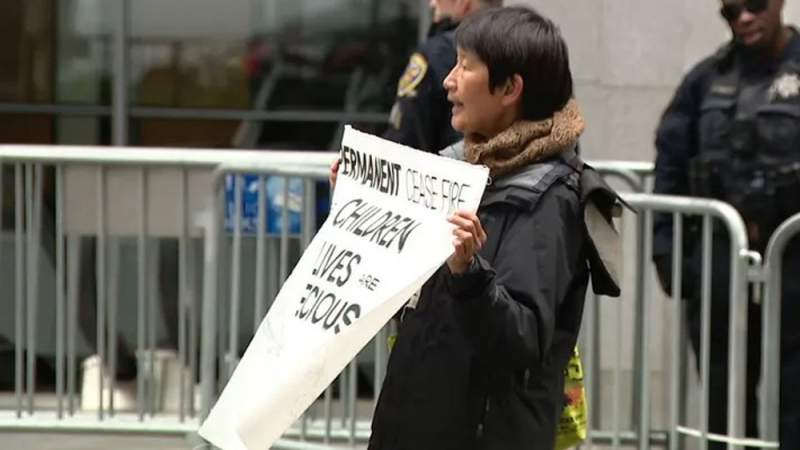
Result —
<svg viewBox="0 0 800 450"><path fill-rule="evenodd" d="M444 61L429 51L411 56L400 79L392 108L389 129L384 138L427 152L438 152L443 130L449 128L450 103L442 85ZM449 70L449 69L448 69ZM415 78L415 71L423 71Z"/></svg>

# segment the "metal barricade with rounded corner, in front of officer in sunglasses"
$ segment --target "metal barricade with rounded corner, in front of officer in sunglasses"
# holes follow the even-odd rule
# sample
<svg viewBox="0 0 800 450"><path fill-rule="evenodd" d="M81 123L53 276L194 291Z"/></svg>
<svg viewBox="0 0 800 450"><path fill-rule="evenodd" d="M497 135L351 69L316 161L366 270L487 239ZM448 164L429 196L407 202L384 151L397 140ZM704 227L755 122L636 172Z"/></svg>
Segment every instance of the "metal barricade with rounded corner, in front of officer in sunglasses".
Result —
<svg viewBox="0 0 800 450"><path fill-rule="evenodd" d="M634 367L634 373L640 377L644 383L641 386L644 395L640 398L640 409L638 415L634 415L634 429L623 432L619 427L619 417L621 411L619 404L615 403L612 412L615 426L611 433L602 433L598 436L597 431L593 430L591 443L611 445L613 448L620 446L635 446L639 449L650 448L651 445L669 446L669 448L681 448L681 436L694 436L699 438L700 448L704 449L710 441L727 442L729 448L743 448L744 445L770 447L769 443L764 443L755 439L746 439L744 436L744 413L745 413L745 366L746 366L746 337L747 337L747 286L748 286L748 266L751 263L760 264L760 256L748 250L747 234L745 225L739 214L729 205L705 199L694 199L687 197L671 197L647 194L625 194L624 199L642 217L644 233L639 235L637 245L643 249L639 253L639 258L635 265L637 271L644 272L642 298L635 299L641 305L642 320L636 320L637 327L645 327L646 320L651 315L650 308L653 305L653 283L649 267L652 257L652 223L653 213L671 213L673 215L673 301L670 305L674 308L676 320L671 328L670 335L673 338L673 357L670 360L670 392L668 402L668 423L663 431L651 430L651 405L650 395L652 392L648 386L647 379L650 376L648 357L641 359L641 365ZM686 348L683 303L681 301L681 275L682 275L682 237L683 237L683 218L693 215L702 217L702 271L701 271L701 301L702 301L702 334L701 334L701 365L700 365L700 424L697 427L690 427L685 422L686 418L682 414L685 392L685 373L684 361L688 352L681 349ZM708 379L709 379L709 342L711 326L711 251L712 251L712 220L722 223L730 236L730 335L729 335L729 406L728 406L728 436L717 436L708 432ZM617 313L621 314L621 307L618 306ZM639 311L636 311L639 315ZM638 329L635 335L642 337L642 348L647 351L649 348L649 333L646 329ZM617 333L615 344L619 346L620 334ZM615 380L619 379L619 360L615 362ZM615 391L619 387L619 382L615 381ZM617 392L615 392L616 398ZM591 407L591 406L590 406Z"/></svg>

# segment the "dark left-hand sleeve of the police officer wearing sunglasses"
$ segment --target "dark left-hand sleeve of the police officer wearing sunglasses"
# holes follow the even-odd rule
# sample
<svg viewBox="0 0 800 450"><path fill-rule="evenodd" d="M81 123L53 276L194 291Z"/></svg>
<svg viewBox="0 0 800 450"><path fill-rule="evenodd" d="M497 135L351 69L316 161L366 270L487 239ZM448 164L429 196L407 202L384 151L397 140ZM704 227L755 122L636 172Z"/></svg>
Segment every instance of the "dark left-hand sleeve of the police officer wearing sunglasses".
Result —
<svg viewBox="0 0 800 450"><path fill-rule="evenodd" d="M689 162L699 153L700 102L705 94L712 61L698 64L683 79L656 131L655 188L657 194L689 195ZM669 293L672 278L671 214L656 214L653 222L653 260L662 287ZM690 223L684 227L689 241ZM687 278L684 278L688 281Z"/></svg>

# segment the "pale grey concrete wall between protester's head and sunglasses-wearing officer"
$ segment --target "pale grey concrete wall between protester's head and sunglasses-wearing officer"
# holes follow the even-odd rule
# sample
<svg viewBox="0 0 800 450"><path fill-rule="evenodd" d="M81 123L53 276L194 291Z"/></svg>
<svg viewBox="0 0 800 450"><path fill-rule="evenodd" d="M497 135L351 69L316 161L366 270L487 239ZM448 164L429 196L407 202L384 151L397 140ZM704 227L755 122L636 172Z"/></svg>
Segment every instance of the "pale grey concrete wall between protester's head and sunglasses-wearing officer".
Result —
<svg viewBox="0 0 800 450"><path fill-rule="evenodd" d="M591 159L652 161L653 132L681 77L728 39L716 0L506 0L562 29ZM800 22L800 2L785 19Z"/></svg>

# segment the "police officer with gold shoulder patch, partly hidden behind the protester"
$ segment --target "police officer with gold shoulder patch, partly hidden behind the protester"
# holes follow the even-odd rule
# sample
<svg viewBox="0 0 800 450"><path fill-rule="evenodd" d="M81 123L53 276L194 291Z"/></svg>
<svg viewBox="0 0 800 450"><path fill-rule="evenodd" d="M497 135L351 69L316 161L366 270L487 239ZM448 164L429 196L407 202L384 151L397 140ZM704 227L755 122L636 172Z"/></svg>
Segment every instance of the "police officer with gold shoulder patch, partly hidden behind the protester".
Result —
<svg viewBox="0 0 800 450"><path fill-rule="evenodd" d="M442 83L456 63L455 29L466 16L501 0L431 0L433 25L428 39L411 55L397 83L397 99L384 137L428 152L461 140L450 126L447 92Z"/></svg>

